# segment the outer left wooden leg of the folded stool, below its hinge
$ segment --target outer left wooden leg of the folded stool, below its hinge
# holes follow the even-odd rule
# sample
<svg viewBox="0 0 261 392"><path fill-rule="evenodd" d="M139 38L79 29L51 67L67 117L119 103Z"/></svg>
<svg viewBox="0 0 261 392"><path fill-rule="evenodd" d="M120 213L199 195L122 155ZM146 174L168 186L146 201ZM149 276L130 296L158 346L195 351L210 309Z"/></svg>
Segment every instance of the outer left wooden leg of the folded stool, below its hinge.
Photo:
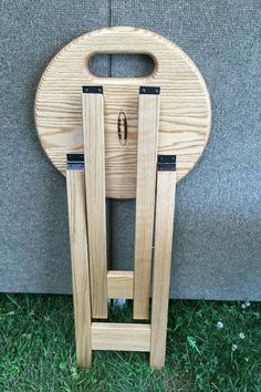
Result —
<svg viewBox="0 0 261 392"><path fill-rule="evenodd" d="M92 364L91 302L83 171L66 172L77 364Z"/></svg>

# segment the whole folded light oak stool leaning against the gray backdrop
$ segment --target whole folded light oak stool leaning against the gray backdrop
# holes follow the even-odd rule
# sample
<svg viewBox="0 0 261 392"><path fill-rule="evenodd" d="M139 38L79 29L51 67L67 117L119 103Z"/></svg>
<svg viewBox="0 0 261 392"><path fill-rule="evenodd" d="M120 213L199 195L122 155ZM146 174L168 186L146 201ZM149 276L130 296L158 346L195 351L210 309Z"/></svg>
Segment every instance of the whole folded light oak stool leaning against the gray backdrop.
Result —
<svg viewBox="0 0 261 392"><path fill-rule="evenodd" d="M154 71L134 79L90 72L94 54L121 52L150 55ZM82 85L102 85L104 94L82 94ZM160 113L158 96L139 102L140 85L160 87ZM128 124L124 146L117 135L122 111ZM106 28L79 37L54 56L39 83L34 114L44 151L66 173L79 364L91 365L92 350L150 351L152 367L161 369L175 187L195 166L209 136L205 81L191 59L167 39L144 29ZM77 152L85 156L86 196L84 172L65 169L66 153ZM91 302L92 316L106 318L107 298L134 297L134 317L148 317L157 153L177 155L177 175L157 175L152 326L91 323ZM107 272L105 196L137 198L135 277L132 271Z"/></svg>

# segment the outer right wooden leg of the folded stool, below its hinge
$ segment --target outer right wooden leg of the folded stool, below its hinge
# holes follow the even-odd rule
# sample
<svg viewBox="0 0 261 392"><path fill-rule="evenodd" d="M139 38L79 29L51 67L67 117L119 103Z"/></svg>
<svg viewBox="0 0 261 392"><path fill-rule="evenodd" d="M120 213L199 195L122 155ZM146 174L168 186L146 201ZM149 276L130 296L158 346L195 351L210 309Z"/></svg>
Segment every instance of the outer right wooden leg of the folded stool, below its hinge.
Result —
<svg viewBox="0 0 261 392"><path fill-rule="evenodd" d="M165 363L176 172L158 172L155 217L150 365Z"/></svg>

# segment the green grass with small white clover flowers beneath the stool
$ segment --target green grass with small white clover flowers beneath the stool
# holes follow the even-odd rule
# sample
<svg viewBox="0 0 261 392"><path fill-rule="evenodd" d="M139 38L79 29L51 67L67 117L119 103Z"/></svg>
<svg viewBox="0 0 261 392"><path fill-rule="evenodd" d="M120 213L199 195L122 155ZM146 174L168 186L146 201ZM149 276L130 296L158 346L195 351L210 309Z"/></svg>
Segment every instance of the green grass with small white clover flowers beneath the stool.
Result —
<svg viewBox="0 0 261 392"><path fill-rule="evenodd" d="M79 370L70 296L0 295L0 392L261 391L260 309L170 301L161 372L129 352L94 352L93 368ZM111 320L130 316L130 305L111 308Z"/></svg>

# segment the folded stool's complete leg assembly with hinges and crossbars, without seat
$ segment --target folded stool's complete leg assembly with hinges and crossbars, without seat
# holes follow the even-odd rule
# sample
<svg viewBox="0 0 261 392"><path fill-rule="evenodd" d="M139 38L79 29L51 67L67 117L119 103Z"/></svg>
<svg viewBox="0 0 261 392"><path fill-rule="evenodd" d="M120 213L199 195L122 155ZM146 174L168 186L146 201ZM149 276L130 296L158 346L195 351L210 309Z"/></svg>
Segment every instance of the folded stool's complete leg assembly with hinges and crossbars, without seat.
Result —
<svg viewBox="0 0 261 392"><path fill-rule="evenodd" d="M139 90L135 270L107 271L103 89L83 87L84 154L69 154L66 169L80 367L91 367L92 350L144 351L155 369L165 363L176 156L157 153L159 92ZM134 299L134 318L148 319L153 257L150 323L93 322L107 318L107 298Z"/></svg>

